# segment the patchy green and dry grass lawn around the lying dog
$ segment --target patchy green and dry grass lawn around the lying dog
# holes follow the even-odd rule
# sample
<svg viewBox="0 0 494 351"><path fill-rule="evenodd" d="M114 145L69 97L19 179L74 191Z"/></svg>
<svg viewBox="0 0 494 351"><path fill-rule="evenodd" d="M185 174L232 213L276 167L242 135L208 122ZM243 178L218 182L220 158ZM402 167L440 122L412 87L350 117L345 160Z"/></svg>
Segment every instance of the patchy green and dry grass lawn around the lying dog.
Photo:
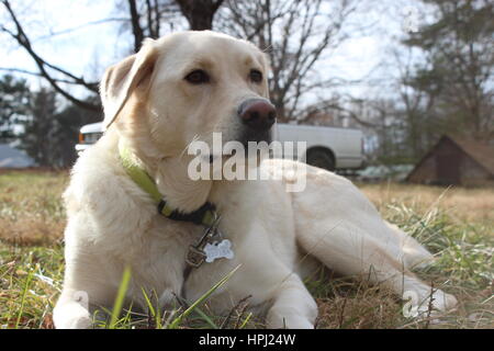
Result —
<svg viewBox="0 0 494 351"><path fill-rule="evenodd" d="M67 172L0 173L0 328L53 328L52 310L64 272L60 194L67 182ZM456 295L460 306L434 322L417 321L403 316L404 303L386 290L330 276L322 269L306 282L319 306L317 328L493 328L494 189L358 185L384 218L437 256L433 265L417 273ZM154 315L124 317L115 326L166 325L169 316L156 318L156 310ZM225 322L225 317L209 313L207 303L178 324L222 326L261 324L249 319L242 306Z"/></svg>

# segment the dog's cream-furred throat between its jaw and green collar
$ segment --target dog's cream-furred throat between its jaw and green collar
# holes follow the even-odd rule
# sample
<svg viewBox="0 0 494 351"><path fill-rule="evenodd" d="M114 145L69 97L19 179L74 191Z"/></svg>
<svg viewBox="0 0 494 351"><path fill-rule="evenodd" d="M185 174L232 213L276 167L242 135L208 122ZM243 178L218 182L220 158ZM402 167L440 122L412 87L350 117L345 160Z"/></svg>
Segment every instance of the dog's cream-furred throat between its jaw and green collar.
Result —
<svg viewBox="0 0 494 351"><path fill-rule="evenodd" d="M158 191L172 208L190 213L207 201L213 181L190 179L189 155L164 158L158 156L159 152L143 152L125 139L120 143L135 155L136 161L155 180Z"/></svg>

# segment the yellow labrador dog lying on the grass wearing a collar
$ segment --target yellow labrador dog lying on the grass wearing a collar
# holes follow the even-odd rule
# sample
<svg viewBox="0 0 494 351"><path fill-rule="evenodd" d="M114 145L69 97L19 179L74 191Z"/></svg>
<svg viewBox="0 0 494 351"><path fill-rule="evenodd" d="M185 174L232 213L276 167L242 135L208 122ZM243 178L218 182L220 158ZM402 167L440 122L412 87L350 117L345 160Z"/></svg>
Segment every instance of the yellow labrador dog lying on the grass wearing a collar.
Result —
<svg viewBox="0 0 494 351"><path fill-rule="evenodd" d="M145 291L162 308L176 296L194 302L238 268L211 297L212 308L225 313L250 295L271 328L314 327L317 306L303 279L315 262L428 303L430 286L407 268L431 254L386 224L348 180L307 167L305 190L290 193L289 177L189 177L193 155L184 150L193 140L210 145L215 132L243 144L269 140L268 69L254 45L213 32L148 39L108 69L101 83L106 132L81 155L64 195L57 328L90 327L94 306L111 308L126 267L127 299L145 307ZM296 172L296 166L271 159L259 167ZM214 236L221 238L209 241ZM227 244L223 251L218 241ZM204 253L215 245L214 254ZM456 305L442 291L431 297L439 310Z"/></svg>

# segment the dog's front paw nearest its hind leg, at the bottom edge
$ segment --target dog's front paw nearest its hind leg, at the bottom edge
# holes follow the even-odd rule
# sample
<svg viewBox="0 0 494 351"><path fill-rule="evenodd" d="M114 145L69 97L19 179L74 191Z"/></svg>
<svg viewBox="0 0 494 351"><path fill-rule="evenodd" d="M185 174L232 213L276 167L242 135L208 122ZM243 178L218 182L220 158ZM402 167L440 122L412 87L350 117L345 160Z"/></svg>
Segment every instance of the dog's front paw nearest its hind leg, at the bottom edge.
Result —
<svg viewBox="0 0 494 351"><path fill-rule="evenodd" d="M317 305L297 274L290 274L277 290L268 312L268 328L313 329Z"/></svg>

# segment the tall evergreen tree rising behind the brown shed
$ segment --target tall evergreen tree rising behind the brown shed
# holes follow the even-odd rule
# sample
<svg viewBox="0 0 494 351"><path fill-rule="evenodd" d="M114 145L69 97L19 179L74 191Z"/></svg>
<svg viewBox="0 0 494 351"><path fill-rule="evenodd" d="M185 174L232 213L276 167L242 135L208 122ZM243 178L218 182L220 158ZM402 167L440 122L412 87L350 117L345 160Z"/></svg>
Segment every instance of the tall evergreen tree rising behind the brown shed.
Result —
<svg viewBox="0 0 494 351"><path fill-rule="evenodd" d="M428 131L494 136L494 5L484 0L424 0L436 21L404 42L426 61L407 82L429 97Z"/></svg>

